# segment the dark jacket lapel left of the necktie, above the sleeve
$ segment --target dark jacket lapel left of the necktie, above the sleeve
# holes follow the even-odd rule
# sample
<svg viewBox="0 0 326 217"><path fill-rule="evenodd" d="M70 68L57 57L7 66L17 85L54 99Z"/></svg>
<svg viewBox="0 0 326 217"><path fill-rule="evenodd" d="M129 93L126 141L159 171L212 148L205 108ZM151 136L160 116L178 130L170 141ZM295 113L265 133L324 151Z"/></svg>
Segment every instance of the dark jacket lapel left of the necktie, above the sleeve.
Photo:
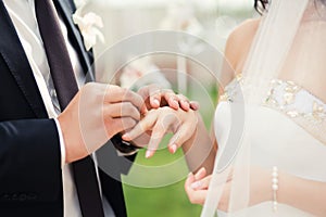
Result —
<svg viewBox="0 0 326 217"><path fill-rule="evenodd" d="M2 55L36 117L47 117L47 111L33 71L2 1L0 1L0 55Z"/></svg>

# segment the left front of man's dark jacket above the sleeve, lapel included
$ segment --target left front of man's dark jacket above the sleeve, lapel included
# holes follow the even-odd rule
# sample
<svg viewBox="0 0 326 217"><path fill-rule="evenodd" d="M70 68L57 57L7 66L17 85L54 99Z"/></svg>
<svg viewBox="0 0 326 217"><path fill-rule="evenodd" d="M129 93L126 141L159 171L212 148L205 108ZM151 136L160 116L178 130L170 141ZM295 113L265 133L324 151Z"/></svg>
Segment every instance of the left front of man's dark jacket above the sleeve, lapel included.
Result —
<svg viewBox="0 0 326 217"><path fill-rule="evenodd" d="M48 117L23 46L2 0L0 29L0 100L3 100L0 104L0 115L3 119L23 118L28 111L27 117ZM13 95L17 98L16 106L11 104ZM25 104L28 106L23 106L26 111L22 113L20 105Z"/></svg>

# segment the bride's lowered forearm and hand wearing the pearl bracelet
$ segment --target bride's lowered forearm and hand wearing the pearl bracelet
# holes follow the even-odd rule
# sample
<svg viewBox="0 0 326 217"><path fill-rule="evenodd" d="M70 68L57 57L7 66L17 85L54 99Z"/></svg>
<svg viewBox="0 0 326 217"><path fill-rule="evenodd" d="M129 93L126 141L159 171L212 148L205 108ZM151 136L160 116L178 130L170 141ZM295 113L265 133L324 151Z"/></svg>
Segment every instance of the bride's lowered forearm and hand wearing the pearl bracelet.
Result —
<svg viewBox="0 0 326 217"><path fill-rule="evenodd" d="M251 167L250 173L250 206L273 201L271 170ZM196 178L199 177L199 178ZM231 176L230 176L231 177ZM203 204L208 194L211 176L198 173L187 178L185 189L189 200L196 204ZM231 178L223 188L218 209L227 212L229 207ZM238 180L237 180L238 181ZM297 176L279 173L278 190L276 191L277 203L287 204L315 216L326 216L326 183ZM272 208L272 207L271 207Z"/></svg>

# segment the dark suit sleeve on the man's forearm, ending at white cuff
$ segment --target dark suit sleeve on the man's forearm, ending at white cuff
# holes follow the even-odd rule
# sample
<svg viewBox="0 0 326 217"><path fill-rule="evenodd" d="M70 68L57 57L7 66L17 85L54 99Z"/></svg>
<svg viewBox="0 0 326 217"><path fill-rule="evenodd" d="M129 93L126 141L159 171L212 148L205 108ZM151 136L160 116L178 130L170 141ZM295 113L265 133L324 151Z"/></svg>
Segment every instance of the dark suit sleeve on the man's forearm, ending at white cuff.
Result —
<svg viewBox="0 0 326 217"><path fill-rule="evenodd" d="M58 200L61 152L53 119L0 123L0 201Z"/></svg>

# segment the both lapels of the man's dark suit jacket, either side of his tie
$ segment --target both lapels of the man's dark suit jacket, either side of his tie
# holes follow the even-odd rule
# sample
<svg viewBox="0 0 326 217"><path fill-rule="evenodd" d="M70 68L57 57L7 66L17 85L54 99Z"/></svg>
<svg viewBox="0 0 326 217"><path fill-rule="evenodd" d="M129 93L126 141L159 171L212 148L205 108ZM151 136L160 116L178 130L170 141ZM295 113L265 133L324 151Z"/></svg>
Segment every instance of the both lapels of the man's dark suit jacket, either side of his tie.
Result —
<svg viewBox="0 0 326 217"><path fill-rule="evenodd" d="M95 80L89 53L86 52L79 30L72 20L72 13L74 11L73 4L65 0L57 0L55 4L67 25L70 40L79 54L79 61L88 76L87 79ZM0 55L5 61L10 73L16 80L18 88L25 95L36 117L48 117L33 71L24 52L24 48L2 0L0 0Z"/></svg>

